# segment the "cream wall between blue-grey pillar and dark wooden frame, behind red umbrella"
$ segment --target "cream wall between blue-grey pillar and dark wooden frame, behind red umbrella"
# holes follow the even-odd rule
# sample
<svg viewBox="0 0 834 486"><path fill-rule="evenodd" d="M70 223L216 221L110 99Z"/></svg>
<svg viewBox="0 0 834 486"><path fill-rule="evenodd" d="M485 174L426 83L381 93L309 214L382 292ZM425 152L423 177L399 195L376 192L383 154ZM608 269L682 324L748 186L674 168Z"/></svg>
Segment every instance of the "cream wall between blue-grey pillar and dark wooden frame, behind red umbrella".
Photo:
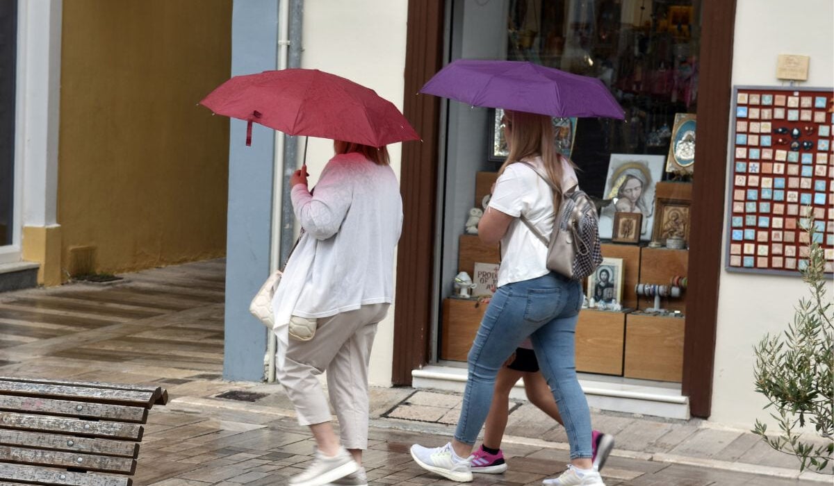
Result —
<svg viewBox="0 0 834 486"><path fill-rule="evenodd" d="M314 0L304 2L302 68L321 69L373 89L400 111L404 99L407 2L390 0ZM304 150L303 141L299 154ZM399 177L402 145L388 147ZM333 142L310 138L310 186L333 157ZM379 324L370 358L370 383L389 386L394 363L394 307Z"/></svg>

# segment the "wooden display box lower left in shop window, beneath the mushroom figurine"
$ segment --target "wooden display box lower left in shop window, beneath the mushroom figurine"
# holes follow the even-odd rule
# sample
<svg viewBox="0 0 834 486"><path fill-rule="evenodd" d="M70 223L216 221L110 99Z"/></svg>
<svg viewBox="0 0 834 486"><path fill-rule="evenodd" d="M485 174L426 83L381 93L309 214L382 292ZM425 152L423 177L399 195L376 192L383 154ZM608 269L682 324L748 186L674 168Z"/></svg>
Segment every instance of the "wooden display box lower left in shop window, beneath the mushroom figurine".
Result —
<svg viewBox="0 0 834 486"><path fill-rule="evenodd" d="M475 307L476 302L462 298L443 299L440 359L466 361L487 308L483 304Z"/></svg>

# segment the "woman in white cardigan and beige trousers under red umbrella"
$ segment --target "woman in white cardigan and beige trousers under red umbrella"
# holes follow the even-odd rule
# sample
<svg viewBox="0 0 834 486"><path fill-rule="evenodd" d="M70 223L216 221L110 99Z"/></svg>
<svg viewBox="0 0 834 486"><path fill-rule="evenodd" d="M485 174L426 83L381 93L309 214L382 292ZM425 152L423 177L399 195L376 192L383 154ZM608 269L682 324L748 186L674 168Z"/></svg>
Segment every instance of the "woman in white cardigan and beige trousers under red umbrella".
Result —
<svg viewBox="0 0 834 486"><path fill-rule="evenodd" d="M274 298L276 323L289 319L277 377L317 448L309 467L289 479L293 486L368 483L361 468L368 448L368 364L377 323L394 297L403 212L388 152L341 141L334 150L313 193L305 167L290 178L304 235ZM341 437L319 383L325 370Z"/></svg>

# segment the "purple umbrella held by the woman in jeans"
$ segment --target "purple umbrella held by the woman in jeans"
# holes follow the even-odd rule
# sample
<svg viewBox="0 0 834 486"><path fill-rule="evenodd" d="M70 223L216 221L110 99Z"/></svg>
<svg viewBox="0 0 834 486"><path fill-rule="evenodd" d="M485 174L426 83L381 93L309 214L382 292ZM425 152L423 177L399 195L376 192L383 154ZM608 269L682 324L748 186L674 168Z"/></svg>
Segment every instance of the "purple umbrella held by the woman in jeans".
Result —
<svg viewBox="0 0 834 486"><path fill-rule="evenodd" d="M460 59L440 69L420 93L551 117L625 118L599 79L520 61Z"/></svg>

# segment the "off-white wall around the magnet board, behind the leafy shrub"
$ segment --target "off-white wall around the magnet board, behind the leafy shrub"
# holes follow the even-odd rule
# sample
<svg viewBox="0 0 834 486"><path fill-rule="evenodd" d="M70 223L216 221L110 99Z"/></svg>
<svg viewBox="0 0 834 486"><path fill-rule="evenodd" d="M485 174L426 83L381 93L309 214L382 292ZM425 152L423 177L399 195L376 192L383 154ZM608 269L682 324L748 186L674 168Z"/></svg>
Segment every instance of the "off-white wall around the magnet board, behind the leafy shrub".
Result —
<svg viewBox="0 0 834 486"><path fill-rule="evenodd" d="M802 85L831 88L832 19L831 0L738 0L732 83L781 85L776 55L802 54L811 56L808 81ZM751 428L756 418L773 423L761 409L766 401L753 384L753 346L765 333L785 330L793 321L794 306L807 295L798 277L722 273L711 421L741 428Z"/></svg>

